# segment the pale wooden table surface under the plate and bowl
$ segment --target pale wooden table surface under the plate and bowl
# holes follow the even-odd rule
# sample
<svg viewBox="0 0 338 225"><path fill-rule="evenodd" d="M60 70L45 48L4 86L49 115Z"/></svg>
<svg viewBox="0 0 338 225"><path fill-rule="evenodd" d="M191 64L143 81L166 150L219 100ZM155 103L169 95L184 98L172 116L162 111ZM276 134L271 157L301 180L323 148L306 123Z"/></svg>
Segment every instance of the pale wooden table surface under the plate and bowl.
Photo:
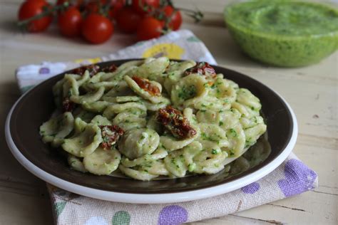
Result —
<svg viewBox="0 0 338 225"><path fill-rule="evenodd" d="M104 56L135 42L116 33L111 41L91 46L61 38L55 27L41 34L23 35L14 26L21 1L0 1L0 224L51 224L46 185L16 162L4 140L4 121L19 98L15 69L41 61L73 61ZM237 214L195 224L337 224L338 53L305 68L274 68L255 63L240 53L222 21L226 1L178 1L179 6L205 11L205 21L185 18L183 28L193 31L217 63L238 70L270 86L290 103L299 122L294 152L319 175L319 187L299 196Z"/></svg>

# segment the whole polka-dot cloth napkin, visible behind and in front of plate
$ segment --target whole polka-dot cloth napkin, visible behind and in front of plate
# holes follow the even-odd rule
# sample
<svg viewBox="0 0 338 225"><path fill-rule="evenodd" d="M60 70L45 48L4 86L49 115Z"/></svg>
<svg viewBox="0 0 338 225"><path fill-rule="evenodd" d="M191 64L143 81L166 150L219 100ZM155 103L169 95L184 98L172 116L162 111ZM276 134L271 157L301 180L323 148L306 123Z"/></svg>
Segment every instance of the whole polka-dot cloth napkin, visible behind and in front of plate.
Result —
<svg viewBox="0 0 338 225"><path fill-rule="evenodd" d="M123 58L168 56L216 64L208 48L191 31L168 33L158 39L136 43L102 58L74 62L43 62L21 66L16 79L24 93L37 83L65 70L87 63ZM177 204L126 204L107 202L66 192L47 184L55 224L182 224L225 216L268 202L307 192L318 186L317 174L291 154L266 177L236 191L217 197Z"/></svg>

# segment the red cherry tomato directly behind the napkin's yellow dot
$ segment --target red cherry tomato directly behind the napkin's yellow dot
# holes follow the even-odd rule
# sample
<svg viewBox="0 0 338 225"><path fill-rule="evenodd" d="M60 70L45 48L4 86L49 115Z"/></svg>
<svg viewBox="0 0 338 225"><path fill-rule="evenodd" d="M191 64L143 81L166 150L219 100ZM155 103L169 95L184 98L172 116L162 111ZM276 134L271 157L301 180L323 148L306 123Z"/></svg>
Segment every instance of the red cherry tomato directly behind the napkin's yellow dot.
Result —
<svg viewBox="0 0 338 225"><path fill-rule="evenodd" d="M158 38L161 35L163 23L153 17L145 17L138 25L137 36L139 41Z"/></svg>

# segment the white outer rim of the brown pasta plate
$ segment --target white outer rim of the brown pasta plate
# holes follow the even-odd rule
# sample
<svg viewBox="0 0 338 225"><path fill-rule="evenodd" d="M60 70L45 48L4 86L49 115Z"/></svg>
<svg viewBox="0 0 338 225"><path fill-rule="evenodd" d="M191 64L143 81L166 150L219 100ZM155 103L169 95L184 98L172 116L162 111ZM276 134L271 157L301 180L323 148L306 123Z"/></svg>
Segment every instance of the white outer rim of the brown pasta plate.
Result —
<svg viewBox="0 0 338 225"><path fill-rule="evenodd" d="M133 59L130 59L128 61L131 61L131 60ZM237 71L235 72L239 73ZM247 75L245 75L245 77L250 78ZM255 80L253 78L250 78L250 79ZM46 82L47 80L45 80L44 82ZM260 83L257 80L255 81ZM42 85L44 82L40 83L39 85ZM37 86L38 85L36 85L36 87ZM34 88L27 91L24 95L22 95L16 101L16 103L11 108L9 115L6 118L5 136L6 136L6 142L9 145L9 149L11 150L14 157L26 169L28 169L29 172L36 175L36 177L39 177L40 179L43 179L44 181L50 184L53 184L56 187L65 189L69 192L81 194L86 197L93 197L96 199L103 199L103 200L108 200L112 202L126 202L126 203L136 203L136 204L160 204L160 203L173 203L173 202L187 202L187 201L196 200L196 199L204 199L208 197L213 197L218 194L225 194L235 189L239 189L240 187L244 187L247 184L251 184L252 182L257 181L257 179L260 179L264 177L265 175L269 174L270 172L272 172L272 170L274 170L276 167L282 164L282 162L290 155L293 147L295 147L295 143L297 140L298 126L297 126L297 119L296 119L295 113L293 112L292 108L290 108L290 105L284 100L284 98L282 98L277 92L275 92L275 90L272 90L271 88L267 87L269 90L275 93L277 97L280 98L280 100L282 100L282 103L285 104L287 110L289 111L291 115L291 119L292 119L292 133L291 133L290 139L288 140L287 144L285 145L284 149L280 152L280 154L277 155L277 157L275 157L274 159L272 159L272 161L266 164L264 167L261 167L260 169L257 169L254 172L246 174L245 176L237 178L230 182L225 182L223 184L217 184L216 186L211 186L211 187L186 190L182 192L165 192L165 193L155 193L155 194L137 193L135 194L135 193L128 193L128 192L112 192L112 191L107 191L103 189L95 189L92 187L85 187L85 186L82 186L80 184L76 184L73 182L68 182L65 179L61 179L59 177L54 176L53 174L50 174L44 171L43 169L36 166L36 164L31 162L29 159L27 159L22 154L22 152L18 149L18 147L16 147L16 144L14 143L14 140L11 137L11 129L10 129L11 115L16 109L16 106L21 102L21 100L27 94L29 94L32 90L34 90Z"/></svg>

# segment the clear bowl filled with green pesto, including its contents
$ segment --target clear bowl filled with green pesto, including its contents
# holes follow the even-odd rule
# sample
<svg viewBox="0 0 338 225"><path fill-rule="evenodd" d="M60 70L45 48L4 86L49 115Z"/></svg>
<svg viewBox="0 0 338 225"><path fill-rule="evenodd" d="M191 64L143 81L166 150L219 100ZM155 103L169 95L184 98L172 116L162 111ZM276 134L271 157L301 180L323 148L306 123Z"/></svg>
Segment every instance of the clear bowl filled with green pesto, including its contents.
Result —
<svg viewBox="0 0 338 225"><path fill-rule="evenodd" d="M317 63L338 48L338 11L306 1L245 1L225 8L225 22L248 56L275 66Z"/></svg>

